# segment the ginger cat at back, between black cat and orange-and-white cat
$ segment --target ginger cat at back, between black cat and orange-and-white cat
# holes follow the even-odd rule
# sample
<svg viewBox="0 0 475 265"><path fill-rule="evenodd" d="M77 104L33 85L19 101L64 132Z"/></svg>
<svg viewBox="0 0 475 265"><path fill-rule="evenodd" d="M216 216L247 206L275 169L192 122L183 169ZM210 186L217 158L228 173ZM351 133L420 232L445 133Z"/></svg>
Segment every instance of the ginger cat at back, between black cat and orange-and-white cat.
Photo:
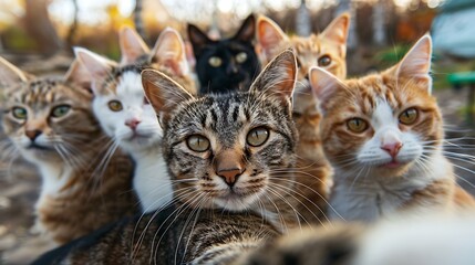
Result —
<svg viewBox="0 0 475 265"><path fill-rule="evenodd" d="M308 38L288 38L279 25L264 15L257 22L257 39L262 47L265 62L289 46L293 47L297 54L300 68L293 94L293 120L299 131L297 168L300 172L297 174L296 189L302 194L301 206L297 210L302 213L304 220L312 223L326 219L323 212L328 206L332 171L321 147L319 135L321 114L316 107L317 100L310 89L308 71L311 66L319 65L340 78L347 76L349 22L349 14L343 13L322 33Z"/></svg>

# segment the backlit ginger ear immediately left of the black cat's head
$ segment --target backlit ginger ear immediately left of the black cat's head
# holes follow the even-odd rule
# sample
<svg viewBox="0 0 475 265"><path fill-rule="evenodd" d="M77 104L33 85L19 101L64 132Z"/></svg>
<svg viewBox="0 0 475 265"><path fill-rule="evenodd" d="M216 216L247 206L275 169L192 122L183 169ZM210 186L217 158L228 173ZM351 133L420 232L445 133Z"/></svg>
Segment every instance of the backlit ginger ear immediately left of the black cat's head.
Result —
<svg viewBox="0 0 475 265"><path fill-rule="evenodd" d="M153 61L156 61L173 71L174 74L185 76L189 74L189 65L186 60L185 43L179 33L166 28L158 36L152 52Z"/></svg>

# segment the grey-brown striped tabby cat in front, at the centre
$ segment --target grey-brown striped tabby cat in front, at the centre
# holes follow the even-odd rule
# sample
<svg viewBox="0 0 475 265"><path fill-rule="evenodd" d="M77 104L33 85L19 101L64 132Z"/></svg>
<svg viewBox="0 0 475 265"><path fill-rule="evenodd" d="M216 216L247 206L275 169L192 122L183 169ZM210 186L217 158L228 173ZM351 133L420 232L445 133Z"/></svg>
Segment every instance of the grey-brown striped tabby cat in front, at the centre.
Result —
<svg viewBox="0 0 475 265"><path fill-rule="evenodd" d="M145 70L177 208L99 231L37 264L228 264L278 235L271 223L285 214L283 197L292 187L288 169L296 160L290 100L296 75L295 55L286 51L249 92L194 97Z"/></svg>

